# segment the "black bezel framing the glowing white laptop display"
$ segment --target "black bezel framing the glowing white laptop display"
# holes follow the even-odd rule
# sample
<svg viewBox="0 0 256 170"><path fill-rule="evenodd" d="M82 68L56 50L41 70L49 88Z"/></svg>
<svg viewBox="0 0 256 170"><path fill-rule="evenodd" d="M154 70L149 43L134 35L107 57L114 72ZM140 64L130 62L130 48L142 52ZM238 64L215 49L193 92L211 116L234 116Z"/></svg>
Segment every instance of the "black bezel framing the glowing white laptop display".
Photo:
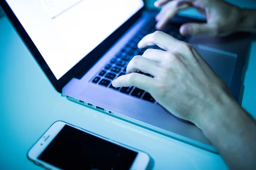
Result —
<svg viewBox="0 0 256 170"><path fill-rule="evenodd" d="M143 2L144 3L144 2ZM122 37L122 35L141 17L143 8L145 8L145 3L143 7L137 11L129 20L127 20L122 26L120 26L116 31L114 31L108 38L106 38L102 43L100 43L96 48L93 49L89 54L87 54L83 59L81 59L73 68L71 68L66 74L64 74L60 79L56 79L51 69L47 65L46 61L42 57L38 48L35 46L34 42L31 40L26 30L21 25L20 21L15 16L14 12L6 2L6 0L0 0L0 6L2 6L3 11L8 17L9 21L12 23L17 34L20 36L23 43L26 45L29 52L34 57L35 61L40 66L41 70L47 76L49 81L52 83L53 87L59 93L62 93L62 88L72 79L80 79L93 65L115 44L115 42Z"/></svg>

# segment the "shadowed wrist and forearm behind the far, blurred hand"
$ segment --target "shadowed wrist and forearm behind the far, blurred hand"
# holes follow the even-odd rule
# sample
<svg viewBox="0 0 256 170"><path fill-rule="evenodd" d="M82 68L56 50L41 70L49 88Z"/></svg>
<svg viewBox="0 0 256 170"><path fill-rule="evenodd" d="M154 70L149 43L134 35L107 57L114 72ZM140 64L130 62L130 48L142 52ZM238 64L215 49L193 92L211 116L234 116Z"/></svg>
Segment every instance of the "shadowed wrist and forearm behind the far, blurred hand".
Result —
<svg viewBox="0 0 256 170"><path fill-rule="evenodd" d="M243 9L240 31L256 32L256 10Z"/></svg>

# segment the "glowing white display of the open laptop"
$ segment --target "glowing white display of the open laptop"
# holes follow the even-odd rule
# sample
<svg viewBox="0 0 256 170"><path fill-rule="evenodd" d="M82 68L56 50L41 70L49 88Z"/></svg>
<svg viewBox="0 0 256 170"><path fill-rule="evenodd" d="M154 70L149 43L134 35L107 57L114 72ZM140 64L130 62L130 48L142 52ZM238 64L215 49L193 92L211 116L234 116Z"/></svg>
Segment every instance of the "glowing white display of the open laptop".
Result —
<svg viewBox="0 0 256 170"><path fill-rule="evenodd" d="M96 48L143 0L6 0L56 79Z"/></svg>

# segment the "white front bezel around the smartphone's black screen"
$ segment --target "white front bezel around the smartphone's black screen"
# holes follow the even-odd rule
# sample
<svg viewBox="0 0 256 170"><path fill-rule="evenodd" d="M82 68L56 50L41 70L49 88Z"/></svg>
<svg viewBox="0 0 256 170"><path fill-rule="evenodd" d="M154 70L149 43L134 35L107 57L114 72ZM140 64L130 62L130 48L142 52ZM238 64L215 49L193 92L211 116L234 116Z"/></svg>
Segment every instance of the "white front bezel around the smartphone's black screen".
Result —
<svg viewBox="0 0 256 170"><path fill-rule="evenodd" d="M41 167L44 167L46 169L51 169L51 170L61 170L58 167L55 167L51 164L48 164L47 162L41 161L38 159L38 156L41 155L41 153L44 151L44 149L52 142L52 140L55 138L55 136L61 131L61 129L65 126L69 125L71 127L74 127L78 130L81 130L85 133L89 133L93 136L99 137L100 139L106 140L108 142L111 142L113 144L117 144L121 147L125 147L126 149L132 150L134 152L137 152L137 156L134 159L134 162L130 168L130 170L146 170L146 168L149 165L150 162L150 156L147 153L144 153L140 150L137 150L132 147L128 147L125 144L120 144L119 142L113 141L111 139L105 138L103 136L97 135L95 133L92 133L88 130L84 130L81 127L77 127L74 125L71 125L67 122L63 121L57 121L54 122L48 130L38 139L38 141L32 146L32 148L29 150L27 153L27 157L30 161L35 163L36 165L39 165Z"/></svg>

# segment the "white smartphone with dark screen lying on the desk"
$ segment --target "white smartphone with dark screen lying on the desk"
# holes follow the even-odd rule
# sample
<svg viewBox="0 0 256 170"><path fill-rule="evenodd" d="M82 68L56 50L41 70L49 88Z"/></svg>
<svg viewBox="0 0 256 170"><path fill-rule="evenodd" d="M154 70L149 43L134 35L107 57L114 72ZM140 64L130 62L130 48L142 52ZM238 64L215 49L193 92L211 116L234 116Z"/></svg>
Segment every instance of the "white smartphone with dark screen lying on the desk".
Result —
<svg viewBox="0 0 256 170"><path fill-rule="evenodd" d="M49 127L27 157L50 170L146 170L150 163L147 153L62 121Z"/></svg>

